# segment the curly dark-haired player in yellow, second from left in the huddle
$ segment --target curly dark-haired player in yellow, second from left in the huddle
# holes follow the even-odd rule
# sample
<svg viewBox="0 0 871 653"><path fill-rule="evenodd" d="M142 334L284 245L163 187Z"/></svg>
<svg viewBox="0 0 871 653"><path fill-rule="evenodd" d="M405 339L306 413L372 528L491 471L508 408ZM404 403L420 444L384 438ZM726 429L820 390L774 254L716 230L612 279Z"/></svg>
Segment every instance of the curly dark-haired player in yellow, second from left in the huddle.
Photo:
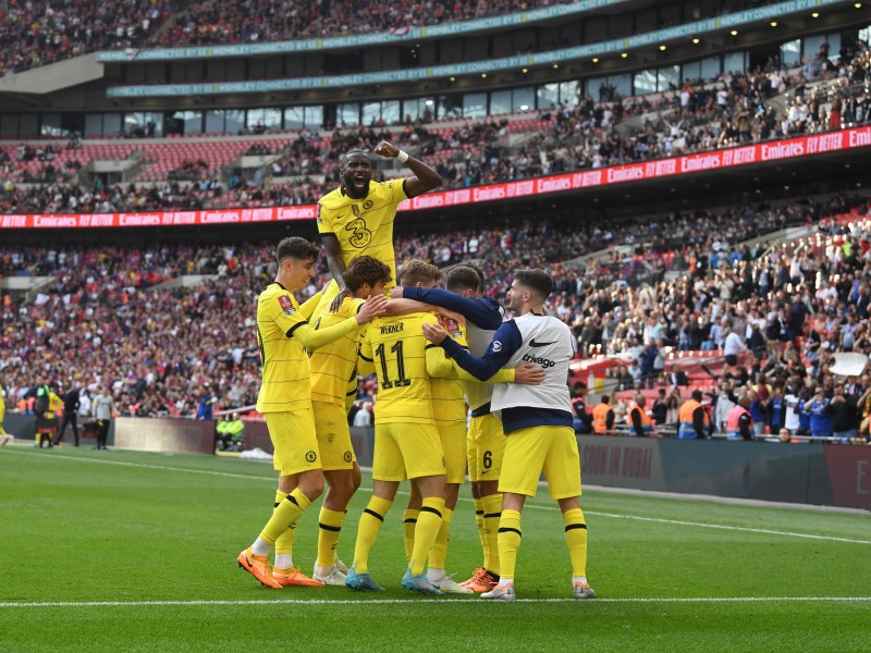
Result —
<svg viewBox="0 0 871 653"><path fill-rule="evenodd" d="M363 256L352 261L343 273L345 286L354 293L339 310L330 311L332 293L324 293L315 310L315 329L329 329L354 317L370 295L383 295L384 284L391 281L390 269L381 261ZM345 519L345 509L360 485L345 408L348 381L355 381L357 350L361 332L351 332L330 345L311 352L308 360L311 373L311 405L315 410L318 447L327 481L327 494L318 517L318 560L314 578L327 584L344 584L345 574L336 566L335 550ZM345 569L346 570L346 569Z"/></svg>

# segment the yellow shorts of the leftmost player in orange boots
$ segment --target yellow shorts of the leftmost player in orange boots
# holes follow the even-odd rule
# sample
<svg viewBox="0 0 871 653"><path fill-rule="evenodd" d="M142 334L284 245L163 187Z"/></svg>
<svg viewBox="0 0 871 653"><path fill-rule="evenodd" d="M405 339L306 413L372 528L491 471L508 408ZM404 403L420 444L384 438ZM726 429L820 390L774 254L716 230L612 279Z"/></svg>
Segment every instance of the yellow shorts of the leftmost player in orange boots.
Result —
<svg viewBox="0 0 871 653"><path fill-rule="evenodd" d="M315 411L303 408L293 412L267 412L266 426L275 449L272 465L281 476L320 469Z"/></svg>

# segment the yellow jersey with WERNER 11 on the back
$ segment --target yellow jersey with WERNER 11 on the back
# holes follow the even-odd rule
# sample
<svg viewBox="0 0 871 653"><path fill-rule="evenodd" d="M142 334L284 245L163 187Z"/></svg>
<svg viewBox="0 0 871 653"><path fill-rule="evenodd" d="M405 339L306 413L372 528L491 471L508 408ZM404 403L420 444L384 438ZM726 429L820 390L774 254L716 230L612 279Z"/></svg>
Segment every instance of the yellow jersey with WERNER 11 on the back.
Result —
<svg viewBox="0 0 871 653"><path fill-rule="evenodd" d="M377 424L434 424L432 386L427 372L425 322L432 313L381 317L372 320L360 342L360 370L378 374Z"/></svg>

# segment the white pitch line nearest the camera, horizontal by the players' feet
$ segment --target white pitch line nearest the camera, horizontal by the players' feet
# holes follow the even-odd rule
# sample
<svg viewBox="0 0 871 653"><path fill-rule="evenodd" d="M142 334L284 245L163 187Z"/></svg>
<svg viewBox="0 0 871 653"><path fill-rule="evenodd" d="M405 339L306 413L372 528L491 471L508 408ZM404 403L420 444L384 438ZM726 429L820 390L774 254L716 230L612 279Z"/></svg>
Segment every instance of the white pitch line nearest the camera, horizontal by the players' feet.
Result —
<svg viewBox="0 0 871 653"><path fill-rule="evenodd" d="M871 596L626 596L594 599L584 603L871 603ZM492 605L490 601L462 599L252 599L252 600L198 600L198 601L46 601L0 603L0 608L15 607L185 607L211 605L417 605L432 603L442 605ZM517 603L580 603L577 599L517 599Z"/></svg>

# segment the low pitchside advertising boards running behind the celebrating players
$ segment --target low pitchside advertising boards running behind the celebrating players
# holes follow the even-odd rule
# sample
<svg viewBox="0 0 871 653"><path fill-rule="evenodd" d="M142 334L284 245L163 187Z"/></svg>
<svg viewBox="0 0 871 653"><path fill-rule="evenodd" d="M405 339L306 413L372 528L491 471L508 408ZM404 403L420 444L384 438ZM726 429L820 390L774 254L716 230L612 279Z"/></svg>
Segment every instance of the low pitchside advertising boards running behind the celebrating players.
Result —
<svg viewBox="0 0 871 653"><path fill-rule="evenodd" d="M214 423L121 417L109 446L213 454ZM7 415L3 426L34 440L34 416ZM359 465L371 467L375 430L352 428L351 439ZM245 421L245 448L255 447L273 451L262 420ZM871 510L871 446L578 435L578 447L586 484Z"/></svg>

